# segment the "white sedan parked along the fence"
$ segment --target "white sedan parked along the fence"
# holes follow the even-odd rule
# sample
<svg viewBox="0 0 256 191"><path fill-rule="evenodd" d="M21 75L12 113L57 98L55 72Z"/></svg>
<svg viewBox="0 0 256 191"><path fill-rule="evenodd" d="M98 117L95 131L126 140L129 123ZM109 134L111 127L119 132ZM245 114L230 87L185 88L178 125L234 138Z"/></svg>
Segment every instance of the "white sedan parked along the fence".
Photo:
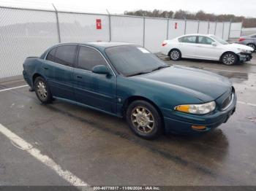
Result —
<svg viewBox="0 0 256 191"><path fill-rule="evenodd" d="M173 61L181 58L222 61L233 65L252 59L252 47L229 44L211 34L187 34L162 42L161 53Z"/></svg>

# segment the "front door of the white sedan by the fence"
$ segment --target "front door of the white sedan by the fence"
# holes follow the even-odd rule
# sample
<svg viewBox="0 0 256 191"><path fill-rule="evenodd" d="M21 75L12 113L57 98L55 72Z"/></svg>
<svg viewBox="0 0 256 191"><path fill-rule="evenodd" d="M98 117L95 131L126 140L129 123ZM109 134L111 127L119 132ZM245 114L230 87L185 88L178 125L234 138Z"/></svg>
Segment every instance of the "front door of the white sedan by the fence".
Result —
<svg viewBox="0 0 256 191"><path fill-rule="evenodd" d="M212 45L213 42L215 42L214 39L208 36L197 36L195 56L200 59L218 61L222 54L222 48L218 46L218 43Z"/></svg>

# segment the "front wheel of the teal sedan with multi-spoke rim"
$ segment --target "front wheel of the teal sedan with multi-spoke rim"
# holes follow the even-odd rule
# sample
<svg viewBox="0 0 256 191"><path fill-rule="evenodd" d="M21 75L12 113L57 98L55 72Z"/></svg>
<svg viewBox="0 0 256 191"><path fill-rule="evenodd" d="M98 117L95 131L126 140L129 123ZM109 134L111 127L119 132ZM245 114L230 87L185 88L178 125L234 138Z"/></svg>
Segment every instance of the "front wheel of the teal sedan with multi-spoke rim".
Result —
<svg viewBox="0 0 256 191"><path fill-rule="evenodd" d="M143 139L156 139L162 133L162 118L147 101L133 101L126 112L129 128Z"/></svg>

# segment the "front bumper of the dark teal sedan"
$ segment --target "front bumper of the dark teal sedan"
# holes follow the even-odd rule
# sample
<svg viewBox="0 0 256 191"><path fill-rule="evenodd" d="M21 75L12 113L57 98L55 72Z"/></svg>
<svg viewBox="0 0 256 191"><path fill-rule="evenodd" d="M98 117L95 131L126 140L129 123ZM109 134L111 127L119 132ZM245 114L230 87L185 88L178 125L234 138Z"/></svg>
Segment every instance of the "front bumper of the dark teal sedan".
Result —
<svg viewBox="0 0 256 191"><path fill-rule="evenodd" d="M214 114L195 115L178 112L178 117L164 117L165 131L181 135L197 135L214 130L222 123L227 122L229 117L236 111L236 94L232 104L225 111L214 112ZM203 130L195 130L192 125L206 126Z"/></svg>

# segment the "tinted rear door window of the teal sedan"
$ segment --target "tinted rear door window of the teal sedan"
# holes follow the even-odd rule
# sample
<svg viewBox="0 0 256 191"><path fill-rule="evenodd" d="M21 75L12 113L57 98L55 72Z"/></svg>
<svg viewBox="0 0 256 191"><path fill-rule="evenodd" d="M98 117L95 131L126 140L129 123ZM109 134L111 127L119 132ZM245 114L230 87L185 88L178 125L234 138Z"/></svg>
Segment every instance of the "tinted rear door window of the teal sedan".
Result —
<svg viewBox="0 0 256 191"><path fill-rule="evenodd" d="M77 46L75 45L63 45L57 47L55 54L55 62L64 66L73 66L75 62Z"/></svg>

